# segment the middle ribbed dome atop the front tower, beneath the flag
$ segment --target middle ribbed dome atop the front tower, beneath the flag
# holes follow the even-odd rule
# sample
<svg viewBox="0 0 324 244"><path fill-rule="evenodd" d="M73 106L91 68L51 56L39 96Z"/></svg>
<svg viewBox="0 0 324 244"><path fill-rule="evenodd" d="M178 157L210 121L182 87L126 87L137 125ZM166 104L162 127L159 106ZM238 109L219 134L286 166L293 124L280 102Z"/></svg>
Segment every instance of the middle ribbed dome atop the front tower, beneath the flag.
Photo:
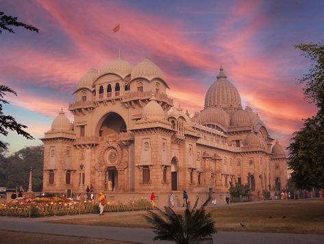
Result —
<svg viewBox="0 0 324 244"><path fill-rule="evenodd" d="M99 70L99 76L102 76L103 74L112 73L119 75L122 79L125 79L127 75L131 74L132 69L132 64L129 64L129 62L119 57L118 59L114 59L105 64Z"/></svg>

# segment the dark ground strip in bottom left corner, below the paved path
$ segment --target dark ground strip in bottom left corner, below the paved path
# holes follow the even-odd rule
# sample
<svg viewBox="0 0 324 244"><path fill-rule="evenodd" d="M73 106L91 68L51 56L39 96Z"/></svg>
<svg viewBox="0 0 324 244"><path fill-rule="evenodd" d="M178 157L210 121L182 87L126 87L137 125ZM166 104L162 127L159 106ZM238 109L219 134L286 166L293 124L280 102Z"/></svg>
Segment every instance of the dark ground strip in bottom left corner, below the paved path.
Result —
<svg viewBox="0 0 324 244"><path fill-rule="evenodd" d="M57 244L57 243L109 243L109 244L126 244L134 242L114 241L108 239L88 238L80 236L63 236L59 234L38 234L31 232L16 232L10 230L0 230L1 243L33 243L33 244ZM136 244L136 243L134 243Z"/></svg>

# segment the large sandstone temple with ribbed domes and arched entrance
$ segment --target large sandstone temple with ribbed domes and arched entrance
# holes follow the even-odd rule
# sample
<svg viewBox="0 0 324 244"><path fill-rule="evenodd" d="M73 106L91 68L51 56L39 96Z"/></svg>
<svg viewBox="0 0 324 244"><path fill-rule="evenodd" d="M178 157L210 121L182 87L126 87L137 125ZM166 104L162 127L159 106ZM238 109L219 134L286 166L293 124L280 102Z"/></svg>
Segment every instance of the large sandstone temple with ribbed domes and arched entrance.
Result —
<svg viewBox="0 0 324 244"><path fill-rule="evenodd" d="M286 154L223 68L192 117L173 106L164 72L151 59L112 60L77 83L70 122L60 111L45 133L43 191L71 194L92 185L110 200L149 197L162 206L170 191L191 200L231 184L251 193L286 188Z"/></svg>

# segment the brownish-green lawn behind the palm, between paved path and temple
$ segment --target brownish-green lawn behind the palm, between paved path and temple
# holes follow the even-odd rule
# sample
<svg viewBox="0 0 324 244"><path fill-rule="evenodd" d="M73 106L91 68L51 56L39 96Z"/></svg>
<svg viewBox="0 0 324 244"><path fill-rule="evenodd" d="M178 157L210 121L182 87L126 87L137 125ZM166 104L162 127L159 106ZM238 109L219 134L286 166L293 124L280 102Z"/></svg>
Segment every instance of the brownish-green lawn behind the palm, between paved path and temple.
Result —
<svg viewBox="0 0 324 244"><path fill-rule="evenodd" d="M231 204L207 208L207 211L212 213L217 230L324 234L323 200ZM66 219L52 223L150 228L139 214L110 216L106 213L97 219ZM241 227L240 223L245 227Z"/></svg>

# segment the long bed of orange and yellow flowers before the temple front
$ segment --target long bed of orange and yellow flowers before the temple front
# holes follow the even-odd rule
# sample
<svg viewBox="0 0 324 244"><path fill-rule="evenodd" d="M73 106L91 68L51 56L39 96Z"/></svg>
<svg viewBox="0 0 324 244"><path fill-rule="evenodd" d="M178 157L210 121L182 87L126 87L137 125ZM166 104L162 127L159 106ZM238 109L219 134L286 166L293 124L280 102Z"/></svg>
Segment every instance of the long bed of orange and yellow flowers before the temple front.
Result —
<svg viewBox="0 0 324 244"><path fill-rule="evenodd" d="M153 209L146 198L128 202L108 202L105 212L140 211ZM99 213L98 204L89 201L77 201L73 198L21 198L0 205L0 215L17 217L46 217L55 215L78 215Z"/></svg>

